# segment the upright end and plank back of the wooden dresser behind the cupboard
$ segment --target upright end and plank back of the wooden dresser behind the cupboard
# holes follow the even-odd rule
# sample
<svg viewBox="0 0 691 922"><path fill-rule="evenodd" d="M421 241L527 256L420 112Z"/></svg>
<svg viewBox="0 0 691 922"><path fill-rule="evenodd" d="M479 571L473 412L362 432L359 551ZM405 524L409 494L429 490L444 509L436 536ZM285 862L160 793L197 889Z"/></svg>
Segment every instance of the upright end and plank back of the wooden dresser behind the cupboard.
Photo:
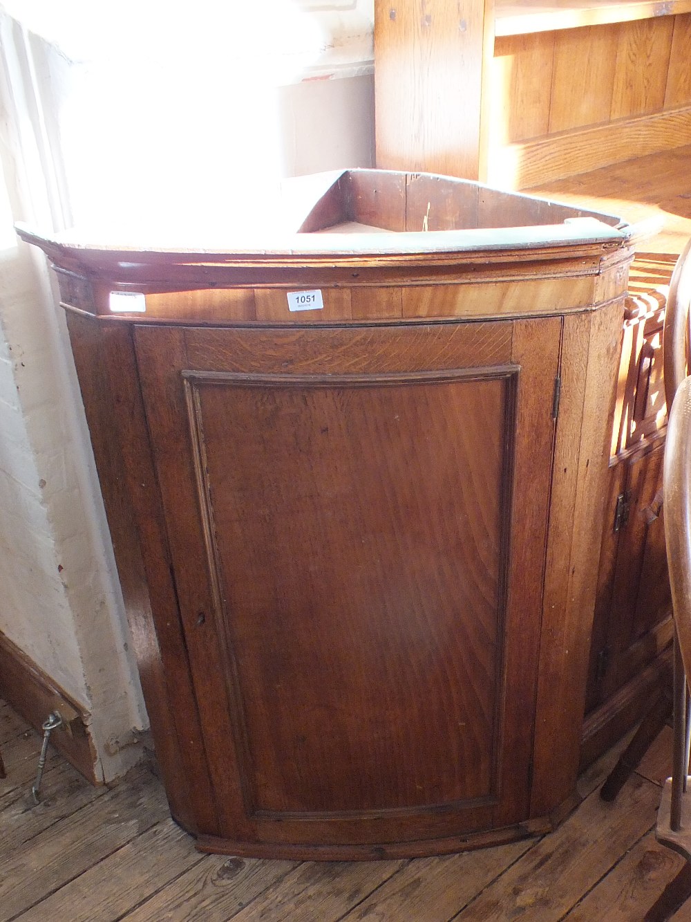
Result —
<svg viewBox="0 0 691 922"><path fill-rule="evenodd" d="M685 0L375 9L378 167L524 189L691 144Z"/></svg>

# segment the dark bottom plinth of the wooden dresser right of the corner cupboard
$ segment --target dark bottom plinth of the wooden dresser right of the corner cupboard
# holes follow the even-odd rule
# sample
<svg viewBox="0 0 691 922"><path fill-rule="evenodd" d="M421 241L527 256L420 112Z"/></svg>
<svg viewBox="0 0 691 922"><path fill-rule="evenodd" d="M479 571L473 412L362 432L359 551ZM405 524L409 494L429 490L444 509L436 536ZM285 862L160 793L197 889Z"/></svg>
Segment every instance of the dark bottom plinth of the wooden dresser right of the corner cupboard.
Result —
<svg viewBox="0 0 691 922"><path fill-rule="evenodd" d="M651 694L661 682L672 680L672 649L662 653L583 721L580 771L598 759L646 713Z"/></svg>

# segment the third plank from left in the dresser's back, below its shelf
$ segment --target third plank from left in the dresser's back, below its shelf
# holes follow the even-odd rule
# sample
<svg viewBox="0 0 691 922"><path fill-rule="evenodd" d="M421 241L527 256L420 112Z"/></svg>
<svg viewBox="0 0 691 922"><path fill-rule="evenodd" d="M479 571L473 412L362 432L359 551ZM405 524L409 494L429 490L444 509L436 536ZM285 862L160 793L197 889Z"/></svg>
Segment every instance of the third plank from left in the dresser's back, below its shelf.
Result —
<svg viewBox="0 0 691 922"><path fill-rule="evenodd" d="M639 19L619 27L613 120L662 110L673 30L672 17Z"/></svg>

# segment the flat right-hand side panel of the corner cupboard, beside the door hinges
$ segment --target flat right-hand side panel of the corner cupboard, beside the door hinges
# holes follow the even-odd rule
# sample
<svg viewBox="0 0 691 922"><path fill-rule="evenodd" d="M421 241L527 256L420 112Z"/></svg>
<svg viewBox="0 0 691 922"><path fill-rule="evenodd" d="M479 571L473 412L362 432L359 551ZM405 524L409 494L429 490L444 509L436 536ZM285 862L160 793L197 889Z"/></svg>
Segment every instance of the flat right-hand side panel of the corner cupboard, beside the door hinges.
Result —
<svg viewBox="0 0 691 922"><path fill-rule="evenodd" d="M565 320L562 396L547 544L531 815L573 792L579 763L598 542L607 496L623 298ZM585 372L585 387L579 378ZM582 425L580 420L582 419Z"/></svg>

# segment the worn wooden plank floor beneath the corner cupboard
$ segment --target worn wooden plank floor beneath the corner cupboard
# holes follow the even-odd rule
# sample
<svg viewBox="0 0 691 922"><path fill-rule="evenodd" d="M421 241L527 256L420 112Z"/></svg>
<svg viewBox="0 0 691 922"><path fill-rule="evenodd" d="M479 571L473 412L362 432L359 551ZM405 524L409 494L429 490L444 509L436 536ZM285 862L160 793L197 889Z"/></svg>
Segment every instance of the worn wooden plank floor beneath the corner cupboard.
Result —
<svg viewBox="0 0 691 922"><path fill-rule="evenodd" d="M41 740L0 703L0 922L641 922L685 868L652 832L670 737L614 804L598 796L608 753L581 777L578 810L542 838L405 861L264 861L196 852L146 766L95 788L53 754L32 806ZM691 900L672 917L691 922Z"/></svg>

